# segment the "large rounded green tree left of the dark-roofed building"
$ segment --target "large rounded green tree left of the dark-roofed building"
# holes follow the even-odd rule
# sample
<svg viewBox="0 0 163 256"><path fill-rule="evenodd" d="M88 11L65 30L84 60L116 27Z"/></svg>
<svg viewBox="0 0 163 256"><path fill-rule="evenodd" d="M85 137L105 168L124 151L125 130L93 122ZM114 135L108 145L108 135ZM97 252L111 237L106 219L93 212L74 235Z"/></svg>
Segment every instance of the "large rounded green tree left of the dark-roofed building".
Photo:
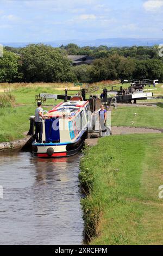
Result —
<svg viewBox="0 0 163 256"><path fill-rule="evenodd" d="M31 44L22 48L21 56L24 81L65 82L70 79L71 62L56 48Z"/></svg>

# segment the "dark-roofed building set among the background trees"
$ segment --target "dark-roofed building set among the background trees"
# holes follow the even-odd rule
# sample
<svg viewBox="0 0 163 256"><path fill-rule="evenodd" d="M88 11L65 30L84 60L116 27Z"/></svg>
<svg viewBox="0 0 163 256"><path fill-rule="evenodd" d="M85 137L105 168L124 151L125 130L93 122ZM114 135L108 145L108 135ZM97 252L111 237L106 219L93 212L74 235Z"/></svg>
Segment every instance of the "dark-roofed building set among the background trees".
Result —
<svg viewBox="0 0 163 256"><path fill-rule="evenodd" d="M92 62L95 58L92 58L87 55L68 55L68 59L72 60L73 66L78 66L78 65L83 65L83 64L90 65L90 64L92 64Z"/></svg>

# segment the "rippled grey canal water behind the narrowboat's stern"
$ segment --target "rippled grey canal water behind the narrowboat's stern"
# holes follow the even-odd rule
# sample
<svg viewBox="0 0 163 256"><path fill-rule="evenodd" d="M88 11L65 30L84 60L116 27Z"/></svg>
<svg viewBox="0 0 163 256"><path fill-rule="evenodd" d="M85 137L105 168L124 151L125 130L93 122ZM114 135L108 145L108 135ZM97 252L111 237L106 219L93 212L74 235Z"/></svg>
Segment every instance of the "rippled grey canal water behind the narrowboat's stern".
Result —
<svg viewBox="0 0 163 256"><path fill-rule="evenodd" d="M79 161L0 153L0 245L82 244Z"/></svg>

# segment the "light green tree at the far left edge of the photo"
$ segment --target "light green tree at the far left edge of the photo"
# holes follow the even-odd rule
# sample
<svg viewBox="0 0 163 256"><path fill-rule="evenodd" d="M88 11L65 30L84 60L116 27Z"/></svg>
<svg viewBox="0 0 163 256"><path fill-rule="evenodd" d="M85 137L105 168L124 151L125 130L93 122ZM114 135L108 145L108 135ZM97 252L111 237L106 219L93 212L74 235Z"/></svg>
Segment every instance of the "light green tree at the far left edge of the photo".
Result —
<svg viewBox="0 0 163 256"><path fill-rule="evenodd" d="M3 51L0 57L0 82L14 82L18 76L18 60L20 56L13 52Z"/></svg>

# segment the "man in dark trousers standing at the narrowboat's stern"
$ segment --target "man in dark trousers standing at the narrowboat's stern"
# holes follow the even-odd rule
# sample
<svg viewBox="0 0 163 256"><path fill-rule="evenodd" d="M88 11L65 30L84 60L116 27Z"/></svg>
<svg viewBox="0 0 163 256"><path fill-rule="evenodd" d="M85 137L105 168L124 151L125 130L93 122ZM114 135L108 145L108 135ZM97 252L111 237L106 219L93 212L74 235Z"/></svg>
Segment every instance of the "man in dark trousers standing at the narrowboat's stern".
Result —
<svg viewBox="0 0 163 256"><path fill-rule="evenodd" d="M36 143L42 143L42 132L43 132L43 126L42 126L42 120L43 118L43 109L41 107L42 103L37 102L37 108L35 110L35 138ZM39 136L38 136L39 134Z"/></svg>

